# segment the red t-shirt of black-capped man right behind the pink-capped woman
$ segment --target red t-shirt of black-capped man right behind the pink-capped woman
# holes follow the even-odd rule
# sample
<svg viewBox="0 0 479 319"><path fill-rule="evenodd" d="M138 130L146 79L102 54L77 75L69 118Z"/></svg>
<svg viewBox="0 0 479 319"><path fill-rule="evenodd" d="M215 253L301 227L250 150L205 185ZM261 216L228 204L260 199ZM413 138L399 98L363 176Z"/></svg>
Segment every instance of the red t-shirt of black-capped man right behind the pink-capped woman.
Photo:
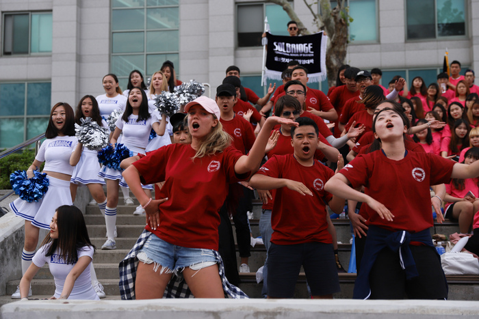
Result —
<svg viewBox="0 0 479 319"><path fill-rule="evenodd" d="M251 127L250 122L244 120L240 115L235 114L233 120L225 121L220 118L223 124L223 130L233 137L233 147L242 154L251 150L255 143L255 131Z"/></svg>

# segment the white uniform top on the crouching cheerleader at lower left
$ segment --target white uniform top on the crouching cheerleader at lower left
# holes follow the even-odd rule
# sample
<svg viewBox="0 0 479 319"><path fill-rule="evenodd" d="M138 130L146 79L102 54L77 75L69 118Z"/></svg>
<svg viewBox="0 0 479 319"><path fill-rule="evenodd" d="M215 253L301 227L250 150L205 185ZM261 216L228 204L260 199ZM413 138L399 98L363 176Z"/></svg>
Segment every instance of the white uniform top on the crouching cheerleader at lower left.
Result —
<svg viewBox="0 0 479 319"><path fill-rule="evenodd" d="M66 261L63 260L62 255L59 253L59 249L55 250L50 256L46 256L49 245L44 245L35 253L34 258L31 260L37 267L42 267L45 263L49 265L50 273L55 279L55 298L59 299L63 287L65 286L65 280L70 271L73 269L75 264L66 264ZM77 250L78 258L83 256L88 256L93 260L93 247L83 246L81 249ZM90 261L91 265L91 261ZM83 273L81 273L77 280L75 280L75 285L73 286L72 291L68 299L75 300L100 300L99 296L96 294L92 286L92 277L90 275L90 265L85 268Z"/></svg>

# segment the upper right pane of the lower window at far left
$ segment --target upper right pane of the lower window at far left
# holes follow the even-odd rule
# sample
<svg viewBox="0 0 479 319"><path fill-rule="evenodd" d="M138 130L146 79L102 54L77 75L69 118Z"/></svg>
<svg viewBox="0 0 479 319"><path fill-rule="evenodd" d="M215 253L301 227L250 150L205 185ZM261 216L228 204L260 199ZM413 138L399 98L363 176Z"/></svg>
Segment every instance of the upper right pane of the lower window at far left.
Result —
<svg viewBox="0 0 479 319"><path fill-rule="evenodd" d="M49 115L51 83L27 83L27 115Z"/></svg>

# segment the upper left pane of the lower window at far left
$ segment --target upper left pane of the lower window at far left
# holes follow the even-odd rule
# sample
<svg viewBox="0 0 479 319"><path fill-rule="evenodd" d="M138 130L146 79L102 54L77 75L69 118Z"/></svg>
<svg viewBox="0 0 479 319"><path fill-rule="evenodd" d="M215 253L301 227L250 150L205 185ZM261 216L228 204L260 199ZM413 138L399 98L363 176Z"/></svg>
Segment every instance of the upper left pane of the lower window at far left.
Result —
<svg viewBox="0 0 479 319"><path fill-rule="evenodd" d="M0 116L23 115L24 113L25 83L0 84Z"/></svg>

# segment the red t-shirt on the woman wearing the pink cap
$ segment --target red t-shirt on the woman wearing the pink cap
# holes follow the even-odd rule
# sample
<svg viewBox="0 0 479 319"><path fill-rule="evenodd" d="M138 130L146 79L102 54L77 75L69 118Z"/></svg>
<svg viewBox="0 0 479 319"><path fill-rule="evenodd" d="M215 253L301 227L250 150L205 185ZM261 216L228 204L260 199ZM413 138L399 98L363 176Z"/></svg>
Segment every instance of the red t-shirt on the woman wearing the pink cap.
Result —
<svg viewBox="0 0 479 319"><path fill-rule="evenodd" d="M218 250L218 212L228 184L249 173L235 173L243 154L233 147L192 161L194 154L190 144L170 144L133 163L143 184L165 181L160 193L168 200L159 205L159 227L146 225L146 230L172 245Z"/></svg>

